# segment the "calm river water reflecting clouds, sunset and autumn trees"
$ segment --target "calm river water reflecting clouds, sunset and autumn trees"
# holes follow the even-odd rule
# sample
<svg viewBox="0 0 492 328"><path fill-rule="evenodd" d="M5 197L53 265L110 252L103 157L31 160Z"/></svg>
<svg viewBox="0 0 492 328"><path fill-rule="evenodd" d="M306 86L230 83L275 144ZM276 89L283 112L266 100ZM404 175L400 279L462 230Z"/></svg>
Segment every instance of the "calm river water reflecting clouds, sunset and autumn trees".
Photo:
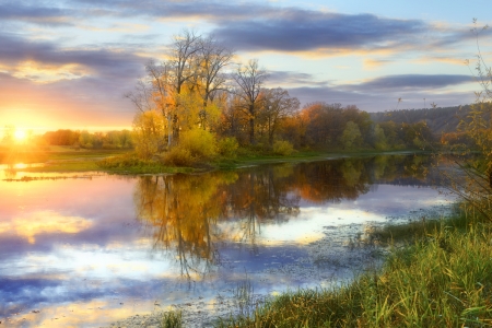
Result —
<svg viewBox="0 0 492 328"><path fill-rule="evenodd" d="M0 320L98 327L179 304L213 312L244 281L261 295L340 283L374 261L354 247L367 226L448 204L430 162L1 180Z"/></svg>

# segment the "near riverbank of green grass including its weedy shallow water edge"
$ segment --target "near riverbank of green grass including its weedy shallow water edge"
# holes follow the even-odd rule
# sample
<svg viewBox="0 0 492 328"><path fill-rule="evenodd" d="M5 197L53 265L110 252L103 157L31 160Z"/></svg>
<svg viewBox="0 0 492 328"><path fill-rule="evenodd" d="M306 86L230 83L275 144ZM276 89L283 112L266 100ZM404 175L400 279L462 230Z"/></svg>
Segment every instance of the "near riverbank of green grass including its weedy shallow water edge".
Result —
<svg viewBox="0 0 492 328"><path fill-rule="evenodd" d="M213 314L199 304L177 305L171 313L132 316L110 327L489 327L492 324L490 223L457 213L450 219L376 229L365 243L388 246L383 266L366 267L342 285L267 298L248 294L247 286L238 286L243 289L239 296L223 300Z"/></svg>

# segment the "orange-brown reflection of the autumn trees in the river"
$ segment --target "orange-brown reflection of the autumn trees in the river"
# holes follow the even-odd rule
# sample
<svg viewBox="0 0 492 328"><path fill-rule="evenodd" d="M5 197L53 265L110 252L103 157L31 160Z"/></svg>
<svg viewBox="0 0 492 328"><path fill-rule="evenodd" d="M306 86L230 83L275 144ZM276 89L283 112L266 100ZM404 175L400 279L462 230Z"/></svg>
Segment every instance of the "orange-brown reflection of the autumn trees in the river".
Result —
<svg viewBox="0 0 492 328"><path fill-rule="evenodd" d="M181 276L204 277L220 263L219 243L248 243L257 249L261 225L295 218L301 200L355 200L376 180L425 179L426 159L374 156L142 176L134 192L137 216L151 231L154 249L171 250Z"/></svg>

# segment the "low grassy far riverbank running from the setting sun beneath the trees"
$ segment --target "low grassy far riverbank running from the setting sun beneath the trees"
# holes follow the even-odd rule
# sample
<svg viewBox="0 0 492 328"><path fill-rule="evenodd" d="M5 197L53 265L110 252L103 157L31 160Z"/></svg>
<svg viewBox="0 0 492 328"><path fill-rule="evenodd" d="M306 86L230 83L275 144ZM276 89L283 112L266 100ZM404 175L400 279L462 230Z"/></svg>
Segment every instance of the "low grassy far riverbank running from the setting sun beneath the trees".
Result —
<svg viewBox="0 0 492 328"><path fill-rule="evenodd" d="M289 156L274 154L243 154L235 159L218 159L194 167L174 167L164 165L159 159L140 160L131 151L124 150L74 150L69 147L56 147L49 151L24 151L16 153L0 153L0 159L11 175L17 173L89 173L105 172L109 174L174 174L192 173L211 169L236 169L244 166L268 163L314 162L341 157L363 157L374 155L396 154L429 154L419 150L405 151L356 151L356 152L296 152ZM10 164L9 164L10 163Z"/></svg>

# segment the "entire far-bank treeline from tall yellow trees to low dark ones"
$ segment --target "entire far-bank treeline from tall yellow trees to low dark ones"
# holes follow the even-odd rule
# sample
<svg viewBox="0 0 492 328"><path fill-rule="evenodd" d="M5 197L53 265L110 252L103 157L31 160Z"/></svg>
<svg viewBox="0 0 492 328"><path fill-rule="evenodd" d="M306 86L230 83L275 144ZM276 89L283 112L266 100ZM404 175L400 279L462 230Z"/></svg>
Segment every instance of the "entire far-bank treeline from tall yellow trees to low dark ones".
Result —
<svg viewBox="0 0 492 328"><path fill-rule="evenodd" d="M151 61L127 97L137 114L133 140L142 159L162 154L186 165L238 150L290 154L294 149L423 149L434 142L422 122L380 122L354 105L312 103L300 108L286 90L266 89L257 60L235 65L233 51L192 32Z"/></svg>

